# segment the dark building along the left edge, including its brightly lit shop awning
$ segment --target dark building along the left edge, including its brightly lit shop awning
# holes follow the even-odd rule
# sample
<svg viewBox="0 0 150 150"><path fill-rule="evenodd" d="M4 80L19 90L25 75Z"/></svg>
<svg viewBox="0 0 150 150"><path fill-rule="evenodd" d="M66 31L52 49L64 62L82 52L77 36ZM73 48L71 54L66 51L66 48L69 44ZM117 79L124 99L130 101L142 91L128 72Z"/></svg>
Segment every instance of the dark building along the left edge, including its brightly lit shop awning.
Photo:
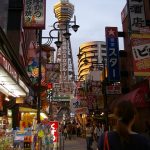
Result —
<svg viewBox="0 0 150 150"><path fill-rule="evenodd" d="M20 105L32 107L34 101L36 107L36 100L29 100L34 90L25 67L37 35L36 30L23 28L23 6L22 0L0 2L0 120L5 115L14 129L20 125Z"/></svg>

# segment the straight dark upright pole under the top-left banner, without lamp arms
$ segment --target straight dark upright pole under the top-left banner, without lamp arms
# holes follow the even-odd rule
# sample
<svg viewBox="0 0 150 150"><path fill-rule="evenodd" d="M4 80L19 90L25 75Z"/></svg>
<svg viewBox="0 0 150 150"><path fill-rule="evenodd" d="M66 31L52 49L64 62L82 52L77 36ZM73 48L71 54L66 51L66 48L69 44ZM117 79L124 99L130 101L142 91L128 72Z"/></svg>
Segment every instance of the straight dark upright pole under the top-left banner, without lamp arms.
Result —
<svg viewBox="0 0 150 150"><path fill-rule="evenodd" d="M41 110L41 79L42 79L42 74L41 74L41 51L42 51L42 30L39 30L39 79L38 79L38 104L37 104L37 122L40 123L40 110Z"/></svg>

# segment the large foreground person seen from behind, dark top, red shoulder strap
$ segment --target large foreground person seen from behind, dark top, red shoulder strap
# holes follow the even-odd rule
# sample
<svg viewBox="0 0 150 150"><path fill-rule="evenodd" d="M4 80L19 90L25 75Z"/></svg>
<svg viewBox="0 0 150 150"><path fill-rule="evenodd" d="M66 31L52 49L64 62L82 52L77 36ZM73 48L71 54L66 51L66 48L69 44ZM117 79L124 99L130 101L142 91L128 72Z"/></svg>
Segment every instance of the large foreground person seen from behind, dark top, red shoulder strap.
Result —
<svg viewBox="0 0 150 150"><path fill-rule="evenodd" d="M98 150L150 150L150 140L132 131L136 114L136 108L130 101L119 102L114 109L116 130L100 136Z"/></svg>

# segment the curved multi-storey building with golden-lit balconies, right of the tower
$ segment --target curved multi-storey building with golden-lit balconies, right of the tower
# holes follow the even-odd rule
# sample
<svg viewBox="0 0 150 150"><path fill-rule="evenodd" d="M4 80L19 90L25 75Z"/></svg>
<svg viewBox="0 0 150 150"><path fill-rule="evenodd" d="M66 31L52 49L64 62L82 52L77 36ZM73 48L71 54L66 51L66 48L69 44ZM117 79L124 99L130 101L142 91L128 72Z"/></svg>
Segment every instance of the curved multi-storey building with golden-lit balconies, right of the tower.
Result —
<svg viewBox="0 0 150 150"><path fill-rule="evenodd" d="M102 63L106 58L106 43L103 41L85 42L79 47L78 78L86 79L93 63Z"/></svg>

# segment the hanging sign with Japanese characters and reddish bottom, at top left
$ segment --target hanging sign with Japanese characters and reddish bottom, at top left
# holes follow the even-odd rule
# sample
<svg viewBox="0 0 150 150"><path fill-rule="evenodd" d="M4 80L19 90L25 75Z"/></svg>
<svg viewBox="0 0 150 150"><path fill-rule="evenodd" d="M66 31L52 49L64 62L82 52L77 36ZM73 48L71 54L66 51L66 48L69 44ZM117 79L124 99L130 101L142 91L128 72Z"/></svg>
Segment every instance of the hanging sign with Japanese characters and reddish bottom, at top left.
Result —
<svg viewBox="0 0 150 150"><path fill-rule="evenodd" d="M24 0L24 28L45 28L46 0Z"/></svg>

